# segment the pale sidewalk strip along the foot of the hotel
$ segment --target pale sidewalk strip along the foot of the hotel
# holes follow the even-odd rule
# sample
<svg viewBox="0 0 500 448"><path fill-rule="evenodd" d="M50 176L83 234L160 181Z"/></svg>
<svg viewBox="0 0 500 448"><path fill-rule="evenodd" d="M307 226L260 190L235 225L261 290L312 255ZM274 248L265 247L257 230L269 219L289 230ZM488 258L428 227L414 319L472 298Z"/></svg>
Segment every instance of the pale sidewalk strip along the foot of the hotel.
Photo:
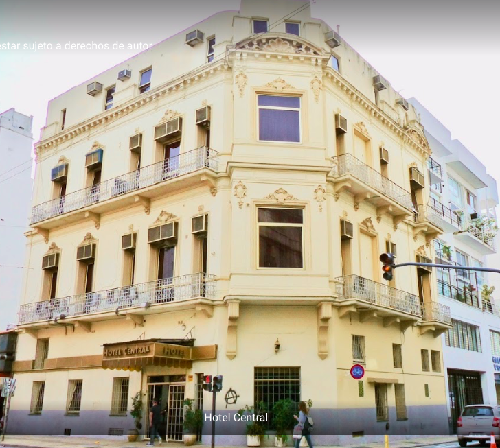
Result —
<svg viewBox="0 0 500 448"><path fill-rule="evenodd" d="M389 448L416 448L426 447L428 445L437 445L439 443L456 443L456 436L425 436L411 438L406 440L391 441L389 436ZM99 448L99 447L114 447L114 448L143 448L146 446L146 441L129 443L126 440L113 440L109 438L90 438L90 437L75 437L75 436L10 436L6 435L5 440L0 442L0 447L14 448ZM158 446L158 443L155 443ZM180 448L183 443L165 443L162 447ZM384 442L363 443L361 440L356 445L345 445L350 448L384 448ZM194 445L195 448L208 448L208 445ZM224 447L236 448L236 447ZM238 447L239 448L239 447ZM325 447L337 448L337 447Z"/></svg>

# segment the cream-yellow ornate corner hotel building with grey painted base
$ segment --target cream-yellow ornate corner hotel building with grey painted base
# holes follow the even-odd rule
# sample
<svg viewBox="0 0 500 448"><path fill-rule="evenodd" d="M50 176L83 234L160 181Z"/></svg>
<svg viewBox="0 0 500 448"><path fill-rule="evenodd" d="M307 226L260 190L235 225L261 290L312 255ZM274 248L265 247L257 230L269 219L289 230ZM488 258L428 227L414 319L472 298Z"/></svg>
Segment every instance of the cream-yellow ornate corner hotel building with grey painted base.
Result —
<svg viewBox="0 0 500 448"><path fill-rule="evenodd" d="M308 2L244 0L76 86L36 152L12 431L124 434L139 393L181 440L219 374L221 414L312 400L318 445L448 432L449 309L378 259L433 257L429 144Z"/></svg>

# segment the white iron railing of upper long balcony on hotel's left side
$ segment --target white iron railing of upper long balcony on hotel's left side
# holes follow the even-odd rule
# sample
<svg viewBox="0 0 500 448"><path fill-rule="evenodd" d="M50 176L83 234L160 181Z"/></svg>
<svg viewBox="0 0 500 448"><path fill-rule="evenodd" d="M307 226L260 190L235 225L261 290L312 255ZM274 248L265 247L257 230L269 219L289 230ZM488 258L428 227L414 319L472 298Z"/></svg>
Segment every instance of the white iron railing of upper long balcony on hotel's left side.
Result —
<svg viewBox="0 0 500 448"><path fill-rule="evenodd" d="M123 176L104 180L91 187L73 191L73 193L68 193L60 198L36 205L32 210L31 224L116 198L122 194L130 193L130 191L137 191L204 167L217 171L218 152L202 146Z"/></svg>

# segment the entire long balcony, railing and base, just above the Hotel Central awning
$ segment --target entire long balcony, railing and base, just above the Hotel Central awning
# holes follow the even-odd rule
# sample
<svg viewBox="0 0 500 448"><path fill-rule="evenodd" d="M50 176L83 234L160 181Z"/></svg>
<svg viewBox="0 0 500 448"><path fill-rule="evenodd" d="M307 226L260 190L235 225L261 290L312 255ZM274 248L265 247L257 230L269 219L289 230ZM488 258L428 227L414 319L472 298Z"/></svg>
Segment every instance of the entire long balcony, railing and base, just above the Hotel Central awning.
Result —
<svg viewBox="0 0 500 448"><path fill-rule="evenodd" d="M172 307L192 307L193 302L203 307L203 303L208 302L206 299L214 298L215 290L215 276L198 273L25 303L19 309L18 329L23 326L52 327L56 324L56 318L59 323L78 322L87 328L91 322L113 318L129 318L141 323L145 314L166 311Z"/></svg>

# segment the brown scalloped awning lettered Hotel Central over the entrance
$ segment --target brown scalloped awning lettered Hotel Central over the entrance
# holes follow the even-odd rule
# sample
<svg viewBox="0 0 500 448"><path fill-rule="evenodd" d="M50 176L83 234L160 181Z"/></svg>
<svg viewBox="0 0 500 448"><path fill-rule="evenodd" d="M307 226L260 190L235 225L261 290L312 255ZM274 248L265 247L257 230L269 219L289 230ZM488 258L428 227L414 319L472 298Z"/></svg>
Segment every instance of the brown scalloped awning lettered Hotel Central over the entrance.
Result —
<svg viewBox="0 0 500 448"><path fill-rule="evenodd" d="M102 368L136 371L144 366L191 368L193 361L217 357L216 345L187 346L185 341L178 344L159 341L148 339L103 344Z"/></svg>

